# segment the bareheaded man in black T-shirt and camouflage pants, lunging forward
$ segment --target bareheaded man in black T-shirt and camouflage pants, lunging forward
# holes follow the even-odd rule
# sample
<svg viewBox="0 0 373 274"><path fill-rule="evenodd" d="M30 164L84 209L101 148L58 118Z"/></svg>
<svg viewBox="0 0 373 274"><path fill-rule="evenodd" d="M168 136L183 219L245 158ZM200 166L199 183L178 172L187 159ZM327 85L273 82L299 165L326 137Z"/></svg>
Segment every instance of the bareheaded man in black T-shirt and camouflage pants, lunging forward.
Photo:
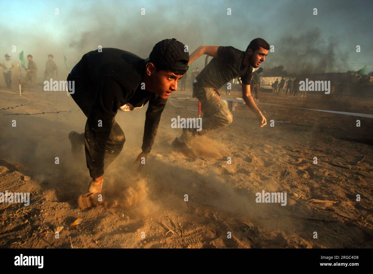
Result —
<svg viewBox="0 0 373 274"><path fill-rule="evenodd" d="M250 82L253 67L259 67L264 62L269 51L269 44L261 38L250 42L246 51L234 47L219 47L201 45L191 56L189 64L203 54L214 57L209 64L197 76L197 82L193 86L192 97L197 97L201 102L203 111L202 130L197 132L195 128L183 128L182 136L176 138L174 145L185 144L191 148L192 138L198 134L203 135L215 129L228 126L232 122L232 113L228 106L222 102L220 88L233 78L241 77L242 97L251 111L257 116L260 127L267 124L266 118L251 96Z"/></svg>

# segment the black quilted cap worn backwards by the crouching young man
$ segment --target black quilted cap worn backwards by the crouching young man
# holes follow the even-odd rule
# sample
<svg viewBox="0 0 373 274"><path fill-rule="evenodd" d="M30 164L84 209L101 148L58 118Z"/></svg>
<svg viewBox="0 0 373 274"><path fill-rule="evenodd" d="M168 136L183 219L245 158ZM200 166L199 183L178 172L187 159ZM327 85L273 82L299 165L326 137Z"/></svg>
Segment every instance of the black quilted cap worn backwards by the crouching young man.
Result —
<svg viewBox="0 0 373 274"><path fill-rule="evenodd" d="M150 53L150 62L169 70L188 70L189 53L185 45L175 38L158 42Z"/></svg>

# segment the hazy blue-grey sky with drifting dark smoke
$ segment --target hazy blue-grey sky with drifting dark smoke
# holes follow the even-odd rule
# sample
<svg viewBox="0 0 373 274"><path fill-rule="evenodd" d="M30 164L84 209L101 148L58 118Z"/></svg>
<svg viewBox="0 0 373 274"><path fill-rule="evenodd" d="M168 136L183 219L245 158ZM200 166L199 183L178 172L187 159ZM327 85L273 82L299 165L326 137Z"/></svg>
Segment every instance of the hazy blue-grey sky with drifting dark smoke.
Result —
<svg viewBox="0 0 373 274"><path fill-rule="evenodd" d="M154 44L165 38L177 38L191 53L201 44L245 50L252 39L261 37L275 46L263 63L267 66L373 62L371 0L1 0L1 6L1 58L8 53L16 61L23 50L42 69L49 53L65 70L63 53L71 69L98 45L146 58ZM313 15L315 7L317 15ZM56 8L59 15L55 15ZM232 15L227 15L228 8ZM12 45L16 45L16 53L12 53ZM360 53L356 45L361 46ZM193 66L203 66L203 62L200 58ZM373 65L367 67L367 72L372 70Z"/></svg>

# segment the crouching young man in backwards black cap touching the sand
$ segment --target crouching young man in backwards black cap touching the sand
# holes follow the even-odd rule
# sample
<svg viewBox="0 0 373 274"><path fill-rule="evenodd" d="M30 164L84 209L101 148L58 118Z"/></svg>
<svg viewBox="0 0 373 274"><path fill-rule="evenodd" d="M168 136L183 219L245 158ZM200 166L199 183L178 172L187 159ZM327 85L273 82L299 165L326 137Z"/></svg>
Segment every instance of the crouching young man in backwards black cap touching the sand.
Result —
<svg viewBox="0 0 373 274"><path fill-rule="evenodd" d="M135 163L147 158L156 138L167 98L178 89L178 81L188 70L189 54L175 38L158 42L144 60L128 51L103 48L85 54L72 69L68 81L75 81L72 98L87 123L85 132L70 132L72 152L85 145L87 167L92 181L88 195L102 189L104 169L119 155L125 136L115 121L118 110L143 107L145 114L142 152ZM139 165L139 170L142 167Z"/></svg>

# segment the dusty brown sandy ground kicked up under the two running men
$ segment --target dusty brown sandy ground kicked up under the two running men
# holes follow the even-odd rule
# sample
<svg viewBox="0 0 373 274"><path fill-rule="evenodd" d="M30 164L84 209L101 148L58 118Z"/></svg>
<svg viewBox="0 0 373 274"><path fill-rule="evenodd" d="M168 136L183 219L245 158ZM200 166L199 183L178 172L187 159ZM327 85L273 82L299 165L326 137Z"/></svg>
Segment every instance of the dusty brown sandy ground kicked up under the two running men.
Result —
<svg viewBox="0 0 373 274"><path fill-rule="evenodd" d="M197 108L185 94L171 98ZM372 98L261 93L260 100L373 113ZM171 118L196 112L167 103L152 152L137 174L132 163L141 150L146 108L118 113L125 147L106 170L102 202L82 211L77 199L90 177L83 152L74 159L68 140L70 131L84 130L82 111L65 92L43 88L21 97L1 89L0 102L0 192L31 195L29 206L0 205L3 248L373 247L373 119L260 105L268 125L259 128L239 104L231 125L195 139L194 149L185 152L170 145L181 133L170 127ZM3 115L55 111L71 112ZM270 127L270 120L289 123ZM286 192L286 206L256 203L262 190ZM77 218L81 223L70 227ZM58 226L64 228L56 239Z"/></svg>

